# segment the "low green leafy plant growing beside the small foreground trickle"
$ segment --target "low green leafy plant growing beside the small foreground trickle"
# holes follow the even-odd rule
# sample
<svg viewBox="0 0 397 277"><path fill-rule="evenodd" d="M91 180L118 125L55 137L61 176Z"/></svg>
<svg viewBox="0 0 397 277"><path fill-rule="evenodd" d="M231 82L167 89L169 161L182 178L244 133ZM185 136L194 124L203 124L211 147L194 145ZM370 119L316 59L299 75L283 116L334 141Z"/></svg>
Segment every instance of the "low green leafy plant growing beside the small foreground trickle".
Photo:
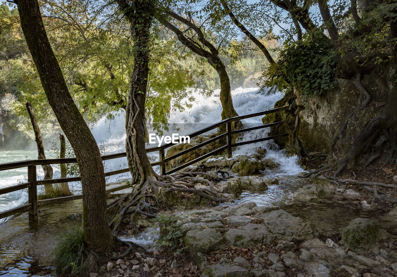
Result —
<svg viewBox="0 0 397 277"><path fill-rule="evenodd" d="M159 247L168 246L175 251L176 255L181 254L186 249L183 243L183 234L176 225L174 217L160 215L158 218L150 219L152 222L157 222L160 225L160 236L157 240Z"/></svg>

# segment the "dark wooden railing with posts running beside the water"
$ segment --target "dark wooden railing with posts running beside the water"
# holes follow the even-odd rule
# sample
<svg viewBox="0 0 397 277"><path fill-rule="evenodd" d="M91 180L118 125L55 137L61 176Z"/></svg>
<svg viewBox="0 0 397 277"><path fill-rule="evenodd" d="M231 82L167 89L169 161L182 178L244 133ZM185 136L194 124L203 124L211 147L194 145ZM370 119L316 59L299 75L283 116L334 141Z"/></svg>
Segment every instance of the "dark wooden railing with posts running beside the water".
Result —
<svg viewBox="0 0 397 277"><path fill-rule="evenodd" d="M241 119L247 119L250 117L256 117L256 116L260 116L260 115L265 115L265 114L269 114L269 113L275 113L281 110L288 110L289 107L288 106L284 106L281 108L275 108L272 110L266 110L263 112L257 112L257 113L251 113L251 114L247 114L247 115L241 115L241 116L236 116L236 117L231 117L231 118L227 118L224 119L218 123L215 123L213 125L210 125L208 127L205 127L199 131L193 132L190 135L188 135L190 138L196 137L198 135L202 135L204 133L207 133L208 131L211 131L213 129L216 129L218 127L221 127L222 125L225 125L225 129L226 132L218 135L214 138L211 138L209 140L206 140L200 144L197 144L189 149L183 150L173 156L170 156L168 158L165 158L165 150L169 147L171 147L174 144L178 144L177 143L167 143L167 144L163 144L162 146L158 146L158 147L152 147L152 148L146 148L146 153L149 152L155 152L158 151L159 152L159 156L160 156L160 160L158 162L153 162L151 163L152 166L155 165L160 165L160 175L166 175L166 174L171 174L174 173L176 171L179 171L189 165L195 164L197 162L199 162L202 159L205 159L209 156L212 156L214 154L217 154L219 152L222 152L224 150L227 150L227 154L229 156L231 156L232 154L232 147L234 146L240 146L240 145L245 145L245 144L250 144L250 143L255 143L255 142L261 142L261 141L265 141L265 140L271 140L274 138L278 138L278 137L285 137L288 134L280 134L280 135L275 135L272 137L266 137L266 138L259 138L259 139L255 139L255 140L247 140L247 141L243 141L243 142L237 142L237 143L232 143L232 135L237 134L237 133L243 133L243 132L247 132L247 131L252 131L252 130L257 130L257 129L262 129L262 128L266 128L266 127L271 127L271 126L276 126L276 125L281 125L281 124L285 124L285 123L290 123L290 120L286 120L286 121L279 121L279 122L275 122L275 123L270 123L270 124L265 124L265 125L259 125L256 127L249 127L249 128L245 128L245 129L239 129L239 130L231 130L231 123L237 120L241 120ZM204 154L198 158L195 158L189 162L186 162L185 164L179 165L175 168L170 169L169 171L166 171L166 162L169 162L170 160L173 160L175 158L178 158L179 156L182 156L184 154L187 154L195 149L198 149L202 146L205 146L211 142L215 142L221 138L226 137L226 144L224 146L221 146L207 154ZM123 153L117 153L117 154L110 154L110 155L105 155L102 156L102 161L106 161L106 160L112 160L112 159L116 159L116 158L123 158L126 157L127 154L125 152ZM55 204L55 203L60 203L60 202L65 202L65 201L70 201L70 200L76 200L76 199L81 199L83 198L82 194L78 194L78 195L72 195L72 196L65 196L65 197L58 197L58 198L52 198L52 199L46 199L46 200L37 200L37 186L39 185L49 185L49 184L58 184L58 183L67 183L67 182L76 182L76 181L81 181L81 177L68 177L68 178L59 178L59 179L49 179L49 180L37 180L37 174L36 174L36 166L37 165L46 165L46 164L70 164L70 163L77 163L77 159L76 158L65 158L65 159L46 159L46 160L26 160L26 161L21 161L21 162L11 162L11 163L6 163L6 164L0 164L0 171L3 170L10 170L10 169L16 169L16 168L21 168L21 167L27 167L27 183L23 183L23 184L19 184L19 185L14 185L11 187L6 187L3 189L0 189L0 195L2 194L6 194L6 193L10 193L10 192L14 192L17 190L22 190L22 189L28 189L28 203L24 204L22 206L18 206L16 208L12 208L10 210L6 210L4 212L0 212L0 219L8 217L10 215L14 215L14 214L18 214L21 212L26 212L29 211L29 220L33 220L36 221L37 220L37 207L41 206L41 205L48 205L48 204ZM114 170L114 171L109 171L105 173L105 176L112 176L112 175L116 175L116 174L120 174L120 173L125 173L128 172L129 169L128 168L124 168L124 169L119 169L119 170ZM107 193L110 192L115 192L118 190L122 190L122 189L127 189L128 187L130 187L130 185L122 185L119 187L115 187L112 189L108 189L106 190Z"/></svg>

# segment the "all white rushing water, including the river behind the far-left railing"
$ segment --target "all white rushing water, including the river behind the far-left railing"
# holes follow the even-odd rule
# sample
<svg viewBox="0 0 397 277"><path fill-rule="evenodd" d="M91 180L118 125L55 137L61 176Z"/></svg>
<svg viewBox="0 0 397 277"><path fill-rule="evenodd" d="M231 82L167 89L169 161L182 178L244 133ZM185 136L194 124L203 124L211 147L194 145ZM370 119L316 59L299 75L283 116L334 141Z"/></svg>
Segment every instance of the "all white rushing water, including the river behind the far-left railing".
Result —
<svg viewBox="0 0 397 277"><path fill-rule="evenodd" d="M179 112L172 108L170 112L170 130L164 132L165 135L171 133L179 133L179 135L188 135L193 131L197 131L213 123L221 120L222 107L219 100L220 90L215 90L214 94L210 97L201 95L198 92L191 91L189 96L194 96L195 101L192 102L191 108L186 108L184 111ZM268 110L274 107L276 101L282 98L281 93L264 95L258 92L258 88L237 88L232 91L233 105L239 115L245 115L254 112L260 112ZM184 99L181 102L188 101ZM253 117L244 119L243 124L246 126L260 125L262 124L263 116ZM156 133L149 128L149 133ZM214 129L213 131L216 131ZM266 137L268 128L259 129L245 133L243 140L256 139ZM92 128L93 135L98 144L103 145L105 153L113 154L119 152L125 152L125 115L120 112L115 114L113 120L106 120L102 118ZM148 145L153 147L154 145ZM252 154L254 148L262 146L268 149L266 156L268 158L274 158L281 168L278 174L289 174L294 175L302 171L301 167L297 165L297 157L287 157L283 151L277 150L277 146L272 141L258 142L255 144L247 144L240 146L233 155L239 154ZM0 151L1 163L13 162L19 160L36 159L37 152L35 150L28 151ZM158 160L158 153L150 153L151 159ZM114 160L108 160L105 162L105 171L112 171L127 167L126 158L118 158ZM37 167L39 175L42 176L42 169ZM12 171L0 171L0 188L15 185L19 181L23 181L27 172L27 169L15 169ZM158 168L155 168L158 170ZM54 174L54 178L59 173ZM129 173L119 174L110 176L107 178L108 183L120 181L121 179L129 178ZM23 203L26 193L14 192L0 196L0 211L7 210L14 206Z"/></svg>

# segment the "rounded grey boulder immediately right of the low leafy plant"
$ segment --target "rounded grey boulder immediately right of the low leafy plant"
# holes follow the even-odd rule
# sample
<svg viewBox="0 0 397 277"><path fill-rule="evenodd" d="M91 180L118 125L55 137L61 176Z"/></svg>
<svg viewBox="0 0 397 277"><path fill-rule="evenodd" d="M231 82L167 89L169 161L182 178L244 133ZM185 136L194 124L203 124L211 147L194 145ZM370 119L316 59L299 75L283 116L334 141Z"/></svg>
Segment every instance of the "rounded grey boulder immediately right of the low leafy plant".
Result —
<svg viewBox="0 0 397 277"><path fill-rule="evenodd" d="M184 241L193 257L197 252L208 253L225 247L221 233L210 228L188 231Z"/></svg>

